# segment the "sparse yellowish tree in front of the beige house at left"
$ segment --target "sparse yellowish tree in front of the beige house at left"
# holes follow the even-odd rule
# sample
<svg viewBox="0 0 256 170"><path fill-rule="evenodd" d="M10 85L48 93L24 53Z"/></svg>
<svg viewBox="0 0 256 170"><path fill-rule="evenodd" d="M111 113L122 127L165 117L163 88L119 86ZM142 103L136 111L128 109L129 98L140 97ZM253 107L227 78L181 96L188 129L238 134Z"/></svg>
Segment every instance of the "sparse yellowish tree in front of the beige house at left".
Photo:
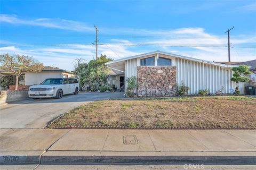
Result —
<svg viewBox="0 0 256 170"><path fill-rule="evenodd" d="M18 90L18 81L21 74L25 72L41 72L43 64L34 60L33 57L24 55L0 55L2 69L15 74L15 90Z"/></svg>

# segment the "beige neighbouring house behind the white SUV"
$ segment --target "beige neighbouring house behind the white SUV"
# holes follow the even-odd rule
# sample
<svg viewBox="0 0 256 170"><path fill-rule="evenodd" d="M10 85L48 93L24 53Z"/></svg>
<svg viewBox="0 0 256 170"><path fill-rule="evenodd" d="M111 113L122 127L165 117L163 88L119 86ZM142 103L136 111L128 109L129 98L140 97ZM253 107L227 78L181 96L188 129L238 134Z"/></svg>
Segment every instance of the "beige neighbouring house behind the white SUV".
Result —
<svg viewBox="0 0 256 170"><path fill-rule="evenodd" d="M1 75L13 75L13 72L2 70L0 68ZM31 86L42 83L47 78L69 78L73 77L74 73L66 70L59 69L58 67L44 66L41 72L26 72L19 78L19 84L23 86Z"/></svg>

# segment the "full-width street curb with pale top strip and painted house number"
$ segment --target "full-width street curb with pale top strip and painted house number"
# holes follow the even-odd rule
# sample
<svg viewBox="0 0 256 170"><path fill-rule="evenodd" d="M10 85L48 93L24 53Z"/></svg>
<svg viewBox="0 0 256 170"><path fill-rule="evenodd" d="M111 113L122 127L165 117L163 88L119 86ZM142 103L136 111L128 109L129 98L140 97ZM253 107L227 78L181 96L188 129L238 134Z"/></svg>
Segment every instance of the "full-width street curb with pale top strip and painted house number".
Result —
<svg viewBox="0 0 256 170"><path fill-rule="evenodd" d="M9 162L4 162L8 159ZM256 165L255 152L47 151L43 155L1 155L1 165L222 164Z"/></svg>

